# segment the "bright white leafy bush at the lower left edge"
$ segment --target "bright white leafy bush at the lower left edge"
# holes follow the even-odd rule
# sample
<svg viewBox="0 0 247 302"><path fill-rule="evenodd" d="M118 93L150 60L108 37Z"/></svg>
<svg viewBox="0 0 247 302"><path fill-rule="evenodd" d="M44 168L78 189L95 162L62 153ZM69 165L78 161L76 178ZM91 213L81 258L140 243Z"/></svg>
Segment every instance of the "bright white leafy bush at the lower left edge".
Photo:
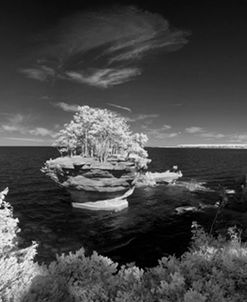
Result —
<svg viewBox="0 0 247 302"><path fill-rule="evenodd" d="M18 248L18 219L5 201L8 189L0 193L0 297L2 301L20 301L29 290L33 277L40 271L33 262L36 244Z"/></svg>

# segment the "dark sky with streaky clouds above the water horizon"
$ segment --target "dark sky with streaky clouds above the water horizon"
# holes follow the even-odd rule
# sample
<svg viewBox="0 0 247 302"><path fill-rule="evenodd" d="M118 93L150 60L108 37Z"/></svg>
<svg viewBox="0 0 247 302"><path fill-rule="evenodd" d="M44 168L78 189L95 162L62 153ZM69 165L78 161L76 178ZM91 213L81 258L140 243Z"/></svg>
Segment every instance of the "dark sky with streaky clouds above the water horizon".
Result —
<svg viewBox="0 0 247 302"><path fill-rule="evenodd" d="M51 145L78 105L126 116L149 146L246 144L246 14L244 0L1 3L0 145Z"/></svg>

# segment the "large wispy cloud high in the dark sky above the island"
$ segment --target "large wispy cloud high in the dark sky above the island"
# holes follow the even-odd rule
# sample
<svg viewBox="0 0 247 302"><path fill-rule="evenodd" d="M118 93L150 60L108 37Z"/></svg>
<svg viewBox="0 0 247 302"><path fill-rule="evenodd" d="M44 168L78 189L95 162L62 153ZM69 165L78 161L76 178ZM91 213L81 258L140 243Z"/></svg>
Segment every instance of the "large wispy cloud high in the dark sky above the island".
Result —
<svg viewBox="0 0 247 302"><path fill-rule="evenodd" d="M171 29L163 16L132 6L85 11L41 35L31 66L20 71L39 81L63 79L109 88L139 76L144 56L153 50L175 51L187 43L187 36Z"/></svg>

